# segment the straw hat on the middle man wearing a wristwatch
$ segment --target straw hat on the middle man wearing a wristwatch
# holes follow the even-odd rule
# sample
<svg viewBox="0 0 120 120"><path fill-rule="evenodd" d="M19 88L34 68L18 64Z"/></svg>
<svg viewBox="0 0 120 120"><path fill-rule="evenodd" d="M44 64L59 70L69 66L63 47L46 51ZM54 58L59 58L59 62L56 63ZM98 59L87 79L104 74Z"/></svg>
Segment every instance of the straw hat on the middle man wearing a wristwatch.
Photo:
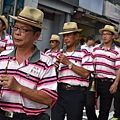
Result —
<svg viewBox="0 0 120 120"><path fill-rule="evenodd" d="M78 29L76 22L67 22L64 23L63 26L63 32L60 32L59 34L67 34L72 32L80 32L82 29Z"/></svg>

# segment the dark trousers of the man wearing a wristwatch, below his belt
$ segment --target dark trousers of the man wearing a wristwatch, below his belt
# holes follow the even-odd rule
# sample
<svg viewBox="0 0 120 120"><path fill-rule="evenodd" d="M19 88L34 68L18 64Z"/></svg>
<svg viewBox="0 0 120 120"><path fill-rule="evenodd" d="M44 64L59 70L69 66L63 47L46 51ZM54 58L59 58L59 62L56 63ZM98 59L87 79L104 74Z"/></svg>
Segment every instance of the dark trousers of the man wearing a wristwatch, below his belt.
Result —
<svg viewBox="0 0 120 120"><path fill-rule="evenodd" d="M85 92L80 89L66 90L58 84L58 100L51 110L51 120L82 120Z"/></svg>

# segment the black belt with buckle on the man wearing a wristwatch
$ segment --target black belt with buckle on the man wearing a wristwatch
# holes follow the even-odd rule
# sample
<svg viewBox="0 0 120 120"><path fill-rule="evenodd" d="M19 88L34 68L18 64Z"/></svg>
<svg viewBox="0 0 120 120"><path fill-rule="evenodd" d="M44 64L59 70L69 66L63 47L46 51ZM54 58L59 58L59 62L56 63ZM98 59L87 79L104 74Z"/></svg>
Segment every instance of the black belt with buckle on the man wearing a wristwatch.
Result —
<svg viewBox="0 0 120 120"><path fill-rule="evenodd" d="M82 92L85 92L87 89L87 87L84 87L84 86L70 85L66 83L58 83L58 85L65 90L81 90Z"/></svg>

